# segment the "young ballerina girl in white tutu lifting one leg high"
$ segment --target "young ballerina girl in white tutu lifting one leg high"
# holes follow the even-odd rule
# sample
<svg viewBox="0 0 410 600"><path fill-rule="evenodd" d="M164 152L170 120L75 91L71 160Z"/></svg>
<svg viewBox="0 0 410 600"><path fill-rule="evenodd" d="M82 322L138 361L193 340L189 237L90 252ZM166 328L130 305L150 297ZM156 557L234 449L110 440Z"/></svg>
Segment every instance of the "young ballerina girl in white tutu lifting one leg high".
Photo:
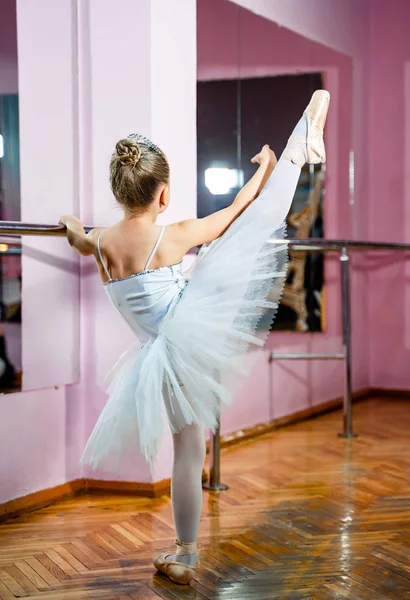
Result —
<svg viewBox="0 0 410 600"><path fill-rule="evenodd" d="M195 574L204 429L215 428L220 405L247 374L255 355L249 347L267 337L286 276L286 246L274 242L284 235L301 168L325 161L328 106L328 92L315 92L277 164L264 146L232 205L206 218L156 225L169 204L169 165L136 134L118 142L110 163L124 218L89 234L77 218L61 218L69 243L95 257L108 296L138 338L114 368L81 461L116 469L124 452L140 451L152 467L165 409L177 540L176 553L154 565L176 583L188 584ZM209 242L184 273L183 256Z"/></svg>

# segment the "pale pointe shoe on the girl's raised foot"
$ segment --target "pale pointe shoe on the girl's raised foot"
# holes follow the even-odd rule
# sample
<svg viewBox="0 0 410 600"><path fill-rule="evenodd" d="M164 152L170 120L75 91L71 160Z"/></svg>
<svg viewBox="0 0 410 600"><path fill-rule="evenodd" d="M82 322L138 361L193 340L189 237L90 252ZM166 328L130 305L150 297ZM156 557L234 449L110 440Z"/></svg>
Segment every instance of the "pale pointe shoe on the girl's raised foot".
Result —
<svg viewBox="0 0 410 600"><path fill-rule="evenodd" d="M323 130L329 110L330 94L326 90L317 90L305 112L307 134L306 136L291 135L282 154L302 168L306 163L317 165L326 162L326 150L323 140Z"/></svg>

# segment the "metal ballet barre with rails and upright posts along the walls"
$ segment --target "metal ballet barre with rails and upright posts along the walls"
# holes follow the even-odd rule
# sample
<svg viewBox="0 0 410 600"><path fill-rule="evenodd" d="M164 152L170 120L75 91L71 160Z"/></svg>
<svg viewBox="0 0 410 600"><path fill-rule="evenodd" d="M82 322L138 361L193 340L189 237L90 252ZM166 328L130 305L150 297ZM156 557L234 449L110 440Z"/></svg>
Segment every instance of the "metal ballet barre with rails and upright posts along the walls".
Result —
<svg viewBox="0 0 410 600"><path fill-rule="evenodd" d="M93 227L85 227L89 232ZM0 221L0 235L21 236L21 235L40 235L40 236L65 236L66 228L63 225L39 225L31 223L20 223L15 221ZM340 353L280 353L271 352L269 361L273 360L341 360L344 362L344 394L343 394L343 431L338 435L344 438L354 438L357 434L353 432L352 422L352 349L351 349L351 303L350 303L350 257L349 252L366 251L401 251L410 252L410 244L396 244L384 242L363 242L353 240L325 240L325 239L288 239L274 240L270 243L276 245L286 245L292 250L306 252L337 252L340 261L340 293L341 293L341 318L343 331L343 352ZM20 251L21 252L21 251ZM2 254L18 254L13 249L12 252L5 250ZM220 424L211 436L210 441L210 474L209 482L204 485L208 490L221 491L227 489L227 486L221 483L220 473Z"/></svg>

